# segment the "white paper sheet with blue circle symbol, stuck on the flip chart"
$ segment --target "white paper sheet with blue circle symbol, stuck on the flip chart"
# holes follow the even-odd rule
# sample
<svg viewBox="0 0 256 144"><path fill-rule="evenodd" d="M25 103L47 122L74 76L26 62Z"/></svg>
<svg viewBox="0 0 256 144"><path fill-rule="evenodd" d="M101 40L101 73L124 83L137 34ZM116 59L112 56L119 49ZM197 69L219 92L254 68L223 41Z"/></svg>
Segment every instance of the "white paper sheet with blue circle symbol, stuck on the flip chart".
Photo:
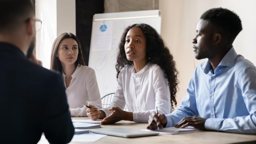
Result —
<svg viewBox="0 0 256 144"><path fill-rule="evenodd" d="M113 21L93 22L92 51L111 50Z"/></svg>

